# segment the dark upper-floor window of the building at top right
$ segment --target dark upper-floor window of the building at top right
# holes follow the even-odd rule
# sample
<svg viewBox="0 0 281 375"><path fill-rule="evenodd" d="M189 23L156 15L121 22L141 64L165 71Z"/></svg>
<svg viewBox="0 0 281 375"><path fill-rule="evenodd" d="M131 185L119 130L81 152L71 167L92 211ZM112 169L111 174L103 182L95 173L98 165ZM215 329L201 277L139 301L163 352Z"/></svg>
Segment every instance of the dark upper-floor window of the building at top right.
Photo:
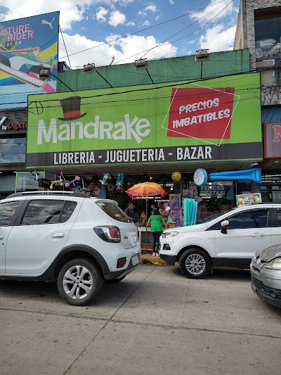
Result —
<svg viewBox="0 0 281 375"><path fill-rule="evenodd" d="M281 56L281 9L263 9L255 12L256 60L268 60Z"/></svg>

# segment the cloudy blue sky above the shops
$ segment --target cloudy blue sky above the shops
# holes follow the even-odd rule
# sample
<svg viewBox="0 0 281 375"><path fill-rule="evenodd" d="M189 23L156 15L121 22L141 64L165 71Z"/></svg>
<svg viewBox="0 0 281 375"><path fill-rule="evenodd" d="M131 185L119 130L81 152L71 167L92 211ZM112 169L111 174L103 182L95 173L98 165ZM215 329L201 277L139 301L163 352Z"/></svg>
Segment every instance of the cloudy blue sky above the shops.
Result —
<svg viewBox="0 0 281 375"><path fill-rule="evenodd" d="M28 4L28 6L27 6ZM240 0L0 0L0 22L60 11L72 69L233 49Z"/></svg>

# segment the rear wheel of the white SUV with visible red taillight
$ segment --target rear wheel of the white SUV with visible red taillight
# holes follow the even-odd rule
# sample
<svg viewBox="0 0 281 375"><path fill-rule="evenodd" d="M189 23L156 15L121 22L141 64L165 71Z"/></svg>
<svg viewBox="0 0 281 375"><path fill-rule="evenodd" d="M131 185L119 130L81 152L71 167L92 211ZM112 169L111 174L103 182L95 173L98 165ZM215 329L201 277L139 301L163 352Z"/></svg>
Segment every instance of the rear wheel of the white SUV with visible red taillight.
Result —
<svg viewBox="0 0 281 375"><path fill-rule="evenodd" d="M100 272L86 259L74 259L60 269L58 291L70 305L86 305L102 285Z"/></svg>

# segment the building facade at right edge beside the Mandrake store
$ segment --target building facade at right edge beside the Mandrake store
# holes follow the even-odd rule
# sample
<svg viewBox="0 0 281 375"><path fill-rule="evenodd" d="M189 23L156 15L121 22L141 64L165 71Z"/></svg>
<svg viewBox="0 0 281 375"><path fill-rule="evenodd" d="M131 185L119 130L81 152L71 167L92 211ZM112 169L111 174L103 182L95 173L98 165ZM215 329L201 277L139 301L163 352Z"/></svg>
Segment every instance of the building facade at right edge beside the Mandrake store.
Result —
<svg viewBox="0 0 281 375"><path fill-rule="evenodd" d="M281 203L280 44L280 1L241 0L234 49L249 49L250 68L261 73L263 200Z"/></svg>

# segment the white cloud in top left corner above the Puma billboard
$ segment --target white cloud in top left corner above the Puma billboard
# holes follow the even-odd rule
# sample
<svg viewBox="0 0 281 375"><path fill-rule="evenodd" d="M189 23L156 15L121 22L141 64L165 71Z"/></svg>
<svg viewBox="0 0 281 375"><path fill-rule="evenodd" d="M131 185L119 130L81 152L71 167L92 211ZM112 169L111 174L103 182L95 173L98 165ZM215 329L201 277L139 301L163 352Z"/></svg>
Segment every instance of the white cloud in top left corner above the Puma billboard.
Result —
<svg viewBox="0 0 281 375"><path fill-rule="evenodd" d="M16 18L30 17L43 13L60 11L60 27L63 30L70 30L72 22L81 21L84 18L84 11L93 0L29 0L28 6L25 1L1 0L1 6L8 8L7 13L0 13L1 21L15 20Z"/></svg>

